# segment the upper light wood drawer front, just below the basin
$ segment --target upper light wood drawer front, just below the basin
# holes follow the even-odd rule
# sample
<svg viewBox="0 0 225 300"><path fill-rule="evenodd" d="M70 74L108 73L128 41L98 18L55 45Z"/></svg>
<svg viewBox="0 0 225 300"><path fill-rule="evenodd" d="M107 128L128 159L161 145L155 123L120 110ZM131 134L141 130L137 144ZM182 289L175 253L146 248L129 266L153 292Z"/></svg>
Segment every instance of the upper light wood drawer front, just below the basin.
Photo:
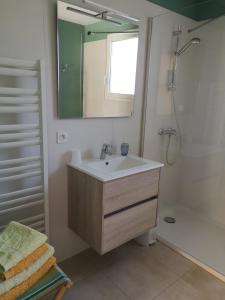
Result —
<svg viewBox="0 0 225 300"><path fill-rule="evenodd" d="M142 200L157 197L159 174L160 169L155 169L104 183L104 215Z"/></svg>

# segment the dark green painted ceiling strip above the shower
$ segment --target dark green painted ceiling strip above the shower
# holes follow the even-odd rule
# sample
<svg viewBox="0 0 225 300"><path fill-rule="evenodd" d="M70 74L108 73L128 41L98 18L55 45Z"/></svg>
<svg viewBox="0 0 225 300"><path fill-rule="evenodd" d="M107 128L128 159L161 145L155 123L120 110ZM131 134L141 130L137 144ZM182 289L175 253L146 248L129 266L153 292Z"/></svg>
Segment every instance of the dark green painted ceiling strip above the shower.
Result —
<svg viewBox="0 0 225 300"><path fill-rule="evenodd" d="M225 15L224 0L148 0L195 21Z"/></svg>

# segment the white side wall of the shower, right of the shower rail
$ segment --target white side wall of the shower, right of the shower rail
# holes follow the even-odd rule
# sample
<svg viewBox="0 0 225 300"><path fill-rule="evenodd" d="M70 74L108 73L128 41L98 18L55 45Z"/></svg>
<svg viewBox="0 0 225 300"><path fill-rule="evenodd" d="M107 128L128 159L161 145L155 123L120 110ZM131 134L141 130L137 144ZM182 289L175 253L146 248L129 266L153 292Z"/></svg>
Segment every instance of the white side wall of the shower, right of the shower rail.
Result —
<svg viewBox="0 0 225 300"><path fill-rule="evenodd" d="M201 38L201 44L181 59L178 74L186 74L178 85L178 101L185 95L178 200L225 226L225 18L193 36Z"/></svg>

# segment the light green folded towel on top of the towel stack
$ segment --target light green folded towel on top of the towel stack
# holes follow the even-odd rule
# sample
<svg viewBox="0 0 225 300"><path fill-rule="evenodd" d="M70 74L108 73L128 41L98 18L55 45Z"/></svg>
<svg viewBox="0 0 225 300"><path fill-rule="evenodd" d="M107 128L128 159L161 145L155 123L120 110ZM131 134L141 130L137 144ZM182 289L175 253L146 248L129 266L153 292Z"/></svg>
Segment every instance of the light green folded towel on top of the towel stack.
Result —
<svg viewBox="0 0 225 300"><path fill-rule="evenodd" d="M0 234L0 272L6 272L47 241L47 236L11 222Z"/></svg>

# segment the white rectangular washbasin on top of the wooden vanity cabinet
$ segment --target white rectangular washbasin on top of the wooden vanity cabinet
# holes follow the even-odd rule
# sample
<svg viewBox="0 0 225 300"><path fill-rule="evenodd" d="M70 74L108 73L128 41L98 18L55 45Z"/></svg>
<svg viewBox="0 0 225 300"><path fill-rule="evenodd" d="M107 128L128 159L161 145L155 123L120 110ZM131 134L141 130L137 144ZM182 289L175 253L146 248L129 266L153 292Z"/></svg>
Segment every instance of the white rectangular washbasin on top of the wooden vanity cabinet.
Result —
<svg viewBox="0 0 225 300"><path fill-rule="evenodd" d="M125 157L112 155L104 160L90 159L80 164L69 165L100 181L109 181L163 167L162 163L130 155Z"/></svg>

